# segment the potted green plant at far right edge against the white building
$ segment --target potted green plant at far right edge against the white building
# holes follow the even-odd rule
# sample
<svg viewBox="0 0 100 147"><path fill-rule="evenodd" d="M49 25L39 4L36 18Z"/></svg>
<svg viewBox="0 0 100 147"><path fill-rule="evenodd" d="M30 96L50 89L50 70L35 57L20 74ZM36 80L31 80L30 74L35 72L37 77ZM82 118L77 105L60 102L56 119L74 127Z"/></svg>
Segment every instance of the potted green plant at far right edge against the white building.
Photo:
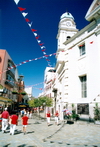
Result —
<svg viewBox="0 0 100 147"><path fill-rule="evenodd" d="M95 124L100 124L100 108L98 106L98 103L95 103L94 107L94 120Z"/></svg>

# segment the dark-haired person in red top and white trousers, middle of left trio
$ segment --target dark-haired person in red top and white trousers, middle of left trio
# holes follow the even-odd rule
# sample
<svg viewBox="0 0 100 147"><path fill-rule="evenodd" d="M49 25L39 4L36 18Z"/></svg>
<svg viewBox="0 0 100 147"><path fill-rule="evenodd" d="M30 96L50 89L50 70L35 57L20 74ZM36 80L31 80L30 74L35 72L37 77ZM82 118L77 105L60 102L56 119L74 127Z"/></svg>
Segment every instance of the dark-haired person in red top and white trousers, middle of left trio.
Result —
<svg viewBox="0 0 100 147"><path fill-rule="evenodd" d="M16 112L13 112L13 115L10 116L10 135L14 135L16 125L18 125L18 115Z"/></svg>

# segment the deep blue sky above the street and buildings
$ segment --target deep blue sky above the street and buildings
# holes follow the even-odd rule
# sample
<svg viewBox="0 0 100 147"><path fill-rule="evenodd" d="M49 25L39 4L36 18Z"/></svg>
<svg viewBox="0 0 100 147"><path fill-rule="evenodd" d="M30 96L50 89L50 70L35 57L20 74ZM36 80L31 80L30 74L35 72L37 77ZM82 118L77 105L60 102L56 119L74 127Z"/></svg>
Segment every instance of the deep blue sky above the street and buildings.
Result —
<svg viewBox="0 0 100 147"><path fill-rule="evenodd" d="M44 43L47 55L56 53L57 32L60 16L70 12L81 30L89 22L85 15L92 0L20 0L18 5L14 0L0 0L0 49L6 49L15 64L29 59L43 57L43 52L25 21L18 7L26 8L25 13L32 22L32 29L36 29L39 40ZM29 23L30 23L29 22ZM56 64L55 56L49 56L51 67ZM18 66L19 75L24 75L26 86L33 87L33 96L37 97L42 91L44 70L48 62L42 58Z"/></svg>

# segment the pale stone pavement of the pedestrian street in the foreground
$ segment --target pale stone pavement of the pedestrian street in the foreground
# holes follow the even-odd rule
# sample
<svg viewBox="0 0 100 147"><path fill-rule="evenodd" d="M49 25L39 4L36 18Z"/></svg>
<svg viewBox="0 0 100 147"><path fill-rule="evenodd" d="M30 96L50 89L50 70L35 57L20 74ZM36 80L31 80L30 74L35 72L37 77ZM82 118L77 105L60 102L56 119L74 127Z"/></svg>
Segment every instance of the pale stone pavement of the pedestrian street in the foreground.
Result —
<svg viewBox="0 0 100 147"><path fill-rule="evenodd" d="M78 121L74 124L54 120L47 126L43 119L29 119L27 134L22 133L21 120L15 135L0 132L0 147L100 147L100 125Z"/></svg>

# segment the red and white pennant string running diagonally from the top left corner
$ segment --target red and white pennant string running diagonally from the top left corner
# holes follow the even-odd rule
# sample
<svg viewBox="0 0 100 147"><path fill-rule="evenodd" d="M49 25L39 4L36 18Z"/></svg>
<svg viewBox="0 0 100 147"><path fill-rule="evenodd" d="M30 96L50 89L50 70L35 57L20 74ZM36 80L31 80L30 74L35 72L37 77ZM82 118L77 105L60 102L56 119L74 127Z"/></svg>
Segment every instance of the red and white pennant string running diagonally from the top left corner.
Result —
<svg viewBox="0 0 100 147"><path fill-rule="evenodd" d="M20 0L14 0L16 5L18 5ZM26 11L26 8L22 8L22 7L18 7L19 11L21 12L22 16L24 17L25 21L27 22L28 26L30 27L32 33L35 36L35 39L37 40L38 45L40 46L40 49L44 55L45 60L48 63L48 66L51 67L51 63L50 63L50 59L48 59L48 55L46 54L46 47L44 45L44 43L42 43L41 39L40 39L40 35L37 33L37 30L32 28L32 21L30 21L26 16L28 15Z"/></svg>

